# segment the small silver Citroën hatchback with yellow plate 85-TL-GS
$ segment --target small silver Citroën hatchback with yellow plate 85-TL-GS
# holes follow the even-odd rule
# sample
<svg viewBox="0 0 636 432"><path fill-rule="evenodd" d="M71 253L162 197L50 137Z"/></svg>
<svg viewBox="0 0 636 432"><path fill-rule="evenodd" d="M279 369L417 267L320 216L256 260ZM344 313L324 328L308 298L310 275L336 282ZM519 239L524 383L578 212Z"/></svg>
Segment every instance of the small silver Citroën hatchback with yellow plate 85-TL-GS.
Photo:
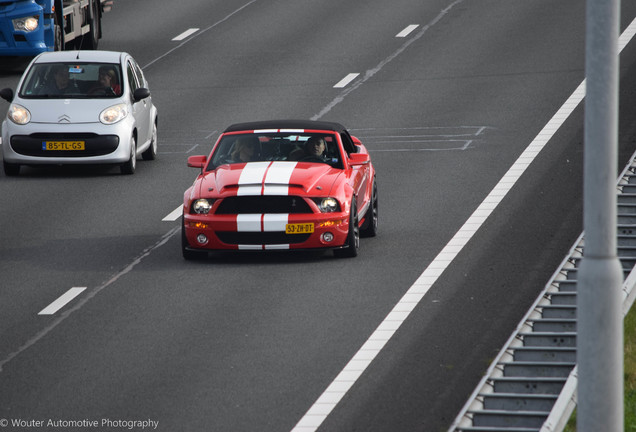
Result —
<svg viewBox="0 0 636 432"><path fill-rule="evenodd" d="M133 174L137 157L157 155L157 108L127 53L58 51L35 57L2 122L8 176L21 165L117 164Z"/></svg>

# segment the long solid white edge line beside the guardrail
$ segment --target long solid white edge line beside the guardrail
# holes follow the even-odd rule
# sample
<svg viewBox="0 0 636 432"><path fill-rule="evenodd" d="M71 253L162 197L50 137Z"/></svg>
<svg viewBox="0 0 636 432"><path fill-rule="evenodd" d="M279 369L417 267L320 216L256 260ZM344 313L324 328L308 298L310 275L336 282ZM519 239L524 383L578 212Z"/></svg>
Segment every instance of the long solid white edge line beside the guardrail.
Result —
<svg viewBox="0 0 636 432"><path fill-rule="evenodd" d="M461 3L462 0L454 4ZM636 19L623 32L619 39L619 53L625 45L636 35ZM488 217L499 206L501 201L517 183L521 175L539 155L570 114L579 106L585 97L585 80L574 90L561 108L543 127L525 151L519 156L499 183L477 207L464 225L457 231L448 244L424 270L415 283L404 294L393 310L384 318L369 339L360 347L358 352L349 360L344 369L336 376L331 384L318 397L305 415L298 421L292 432L313 432L342 400L344 395L355 384L373 359L384 348L386 343L398 331L402 323L408 318L419 302L424 298L431 286L439 279L444 271L453 263L455 257L470 241L473 235L486 222Z"/></svg>

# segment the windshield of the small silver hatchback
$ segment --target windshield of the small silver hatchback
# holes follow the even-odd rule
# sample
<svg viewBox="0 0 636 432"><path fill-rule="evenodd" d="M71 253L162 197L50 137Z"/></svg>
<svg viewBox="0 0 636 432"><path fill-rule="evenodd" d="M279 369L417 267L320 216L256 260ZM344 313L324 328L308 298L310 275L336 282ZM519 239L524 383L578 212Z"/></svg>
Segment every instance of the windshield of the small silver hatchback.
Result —
<svg viewBox="0 0 636 432"><path fill-rule="evenodd" d="M115 98L121 96L121 82L116 63L38 63L29 69L20 97Z"/></svg>

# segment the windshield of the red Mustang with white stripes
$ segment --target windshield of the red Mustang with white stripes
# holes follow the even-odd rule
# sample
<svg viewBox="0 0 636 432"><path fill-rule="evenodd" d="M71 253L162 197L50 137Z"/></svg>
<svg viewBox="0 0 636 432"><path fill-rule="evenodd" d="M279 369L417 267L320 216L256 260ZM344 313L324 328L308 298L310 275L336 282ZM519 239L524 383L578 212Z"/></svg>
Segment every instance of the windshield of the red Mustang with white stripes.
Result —
<svg viewBox="0 0 636 432"><path fill-rule="evenodd" d="M224 135L207 169L259 161L314 162L343 167L335 134L278 132Z"/></svg>

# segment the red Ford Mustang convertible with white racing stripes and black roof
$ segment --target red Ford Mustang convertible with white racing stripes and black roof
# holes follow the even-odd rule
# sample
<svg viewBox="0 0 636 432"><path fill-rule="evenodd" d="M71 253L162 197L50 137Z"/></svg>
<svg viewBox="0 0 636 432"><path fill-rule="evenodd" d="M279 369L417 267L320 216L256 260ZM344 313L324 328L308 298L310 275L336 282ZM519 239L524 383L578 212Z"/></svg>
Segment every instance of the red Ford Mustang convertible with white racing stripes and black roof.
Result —
<svg viewBox="0 0 636 432"><path fill-rule="evenodd" d="M338 123L234 124L183 197L186 259L212 250L333 249L358 254L378 229L378 190L366 147Z"/></svg>

